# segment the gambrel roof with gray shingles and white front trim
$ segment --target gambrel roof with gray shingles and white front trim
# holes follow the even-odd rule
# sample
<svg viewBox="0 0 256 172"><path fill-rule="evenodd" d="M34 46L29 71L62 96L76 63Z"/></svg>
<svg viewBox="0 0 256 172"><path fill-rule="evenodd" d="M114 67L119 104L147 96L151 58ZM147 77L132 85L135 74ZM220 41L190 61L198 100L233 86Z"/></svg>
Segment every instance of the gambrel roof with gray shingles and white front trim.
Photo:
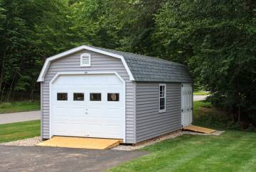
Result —
<svg viewBox="0 0 256 172"><path fill-rule="evenodd" d="M40 76L38 77L38 81L44 80L44 75L46 74L51 61L65 57L80 50L90 50L93 52L99 52L103 55L109 55L111 57L117 57L121 59L125 69L127 69L127 73L129 74L129 79L131 81L193 82L193 78L186 65L156 57L137 55L134 53L121 52L117 50L109 50L101 47L93 47L90 45L82 45L80 47L73 48L46 59L46 63L43 65L43 69Z"/></svg>

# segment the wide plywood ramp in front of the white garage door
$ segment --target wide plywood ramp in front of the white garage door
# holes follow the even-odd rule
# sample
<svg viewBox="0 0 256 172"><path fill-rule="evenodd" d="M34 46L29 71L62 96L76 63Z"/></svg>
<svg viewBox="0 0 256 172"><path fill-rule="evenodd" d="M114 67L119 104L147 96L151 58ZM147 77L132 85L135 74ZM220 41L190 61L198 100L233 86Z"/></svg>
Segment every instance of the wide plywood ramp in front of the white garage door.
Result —
<svg viewBox="0 0 256 172"><path fill-rule="evenodd" d="M85 137L60 137L54 136L44 142L36 144L39 147L70 147L80 149L110 149L117 147L121 139L100 139Z"/></svg>

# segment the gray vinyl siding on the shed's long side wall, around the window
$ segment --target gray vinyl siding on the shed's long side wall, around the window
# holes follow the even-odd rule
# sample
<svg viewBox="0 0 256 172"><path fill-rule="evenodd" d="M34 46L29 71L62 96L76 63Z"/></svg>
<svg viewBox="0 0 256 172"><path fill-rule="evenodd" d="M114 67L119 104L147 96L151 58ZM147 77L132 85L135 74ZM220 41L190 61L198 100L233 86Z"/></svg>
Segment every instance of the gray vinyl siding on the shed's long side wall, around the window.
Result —
<svg viewBox="0 0 256 172"><path fill-rule="evenodd" d="M159 113L159 83L137 82L136 119L136 142L181 129L181 83L166 83L166 112Z"/></svg>

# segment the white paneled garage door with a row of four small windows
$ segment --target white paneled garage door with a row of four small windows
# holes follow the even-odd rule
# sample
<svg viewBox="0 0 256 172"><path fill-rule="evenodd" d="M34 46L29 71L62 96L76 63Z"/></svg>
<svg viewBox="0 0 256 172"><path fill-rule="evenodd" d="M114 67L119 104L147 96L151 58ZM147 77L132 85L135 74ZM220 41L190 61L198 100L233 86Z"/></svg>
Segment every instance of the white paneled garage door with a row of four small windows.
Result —
<svg viewBox="0 0 256 172"><path fill-rule="evenodd" d="M115 74L60 75L50 89L51 135L124 138L124 83Z"/></svg>

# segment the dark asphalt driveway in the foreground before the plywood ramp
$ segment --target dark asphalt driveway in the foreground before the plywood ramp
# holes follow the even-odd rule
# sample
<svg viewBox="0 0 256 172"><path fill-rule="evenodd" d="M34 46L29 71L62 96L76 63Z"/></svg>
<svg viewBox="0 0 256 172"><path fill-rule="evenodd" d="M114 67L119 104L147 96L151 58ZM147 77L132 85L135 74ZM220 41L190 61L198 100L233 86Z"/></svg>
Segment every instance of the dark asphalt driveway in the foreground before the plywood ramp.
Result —
<svg viewBox="0 0 256 172"><path fill-rule="evenodd" d="M0 145L0 171L103 171L146 151Z"/></svg>

